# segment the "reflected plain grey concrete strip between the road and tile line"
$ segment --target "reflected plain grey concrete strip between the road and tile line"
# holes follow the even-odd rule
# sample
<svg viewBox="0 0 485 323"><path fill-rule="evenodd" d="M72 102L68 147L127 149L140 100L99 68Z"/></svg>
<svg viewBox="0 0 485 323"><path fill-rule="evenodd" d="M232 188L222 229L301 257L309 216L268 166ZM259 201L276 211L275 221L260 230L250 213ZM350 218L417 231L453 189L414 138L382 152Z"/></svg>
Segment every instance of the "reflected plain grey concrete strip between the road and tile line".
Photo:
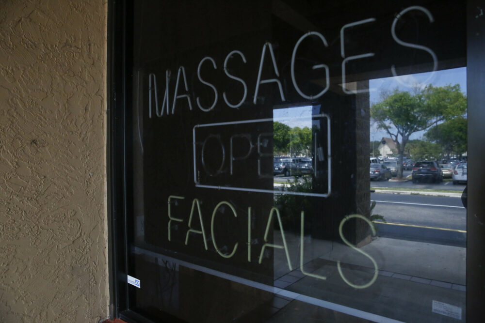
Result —
<svg viewBox="0 0 485 323"><path fill-rule="evenodd" d="M275 243L282 243L281 234L275 231ZM300 237L295 233L285 232L290 259L294 267L300 263ZM400 274L423 279L445 282L450 285L465 285L466 248L457 246L436 245L432 243L407 241L392 238L376 237L359 250L365 251L376 261L379 274L392 276ZM341 261L349 265L371 268L372 261L349 246L320 239L304 238L304 263L314 259ZM275 278L288 273L284 253L275 258ZM431 283L431 282L430 282ZM455 289L461 289L455 286Z"/></svg>

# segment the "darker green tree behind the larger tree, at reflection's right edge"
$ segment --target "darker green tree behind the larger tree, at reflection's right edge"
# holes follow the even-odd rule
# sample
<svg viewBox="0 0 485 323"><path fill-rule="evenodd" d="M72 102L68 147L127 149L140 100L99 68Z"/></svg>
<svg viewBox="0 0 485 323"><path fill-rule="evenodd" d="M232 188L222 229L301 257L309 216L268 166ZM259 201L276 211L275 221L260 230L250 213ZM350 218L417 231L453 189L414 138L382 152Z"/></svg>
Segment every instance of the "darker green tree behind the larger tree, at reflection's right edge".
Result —
<svg viewBox="0 0 485 323"><path fill-rule="evenodd" d="M461 155L467 149L467 119L457 117L431 127L424 137L441 147L442 154L450 158L451 154Z"/></svg>

